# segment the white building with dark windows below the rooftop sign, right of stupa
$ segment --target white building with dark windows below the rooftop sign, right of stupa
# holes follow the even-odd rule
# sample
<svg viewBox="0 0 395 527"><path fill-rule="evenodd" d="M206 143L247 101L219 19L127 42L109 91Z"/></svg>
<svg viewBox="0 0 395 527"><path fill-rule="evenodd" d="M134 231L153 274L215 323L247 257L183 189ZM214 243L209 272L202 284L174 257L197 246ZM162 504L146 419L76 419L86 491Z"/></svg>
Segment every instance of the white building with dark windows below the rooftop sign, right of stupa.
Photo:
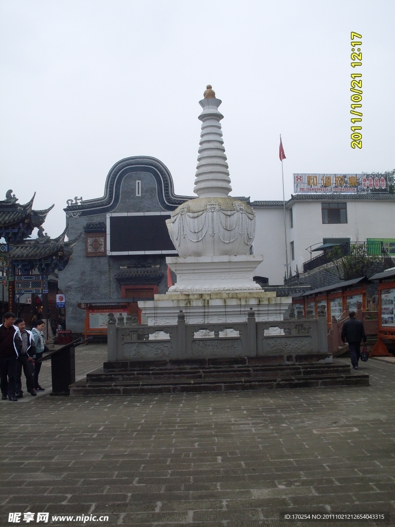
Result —
<svg viewBox="0 0 395 527"><path fill-rule="evenodd" d="M282 201L253 201L256 214L255 254L264 256L257 276L269 284L282 284L285 274L284 211ZM395 259L395 195L367 194L295 194L285 203L288 265L295 273L324 243L342 241L387 240L393 243ZM333 240L334 239L334 240ZM390 242L389 240L392 240ZM313 251L312 254L310 251Z"/></svg>

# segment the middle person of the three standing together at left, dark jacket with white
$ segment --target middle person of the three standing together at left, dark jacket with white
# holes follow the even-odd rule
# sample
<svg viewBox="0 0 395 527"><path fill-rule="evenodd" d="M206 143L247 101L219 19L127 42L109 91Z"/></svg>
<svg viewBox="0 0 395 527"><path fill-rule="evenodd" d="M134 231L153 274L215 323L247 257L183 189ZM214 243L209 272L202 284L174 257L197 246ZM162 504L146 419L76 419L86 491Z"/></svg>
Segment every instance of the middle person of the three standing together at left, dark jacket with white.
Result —
<svg viewBox="0 0 395 527"><path fill-rule="evenodd" d="M34 338L32 332L26 329L26 324L23 318L17 318L15 320L15 326L18 326L19 332L21 333L22 338L22 347L21 353L19 353L17 363L16 363L16 398L19 399L23 397L22 390L22 368L23 373L26 377L26 388L30 395L37 395L34 391L34 382L33 382L33 355L36 353L36 345L34 343Z"/></svg>

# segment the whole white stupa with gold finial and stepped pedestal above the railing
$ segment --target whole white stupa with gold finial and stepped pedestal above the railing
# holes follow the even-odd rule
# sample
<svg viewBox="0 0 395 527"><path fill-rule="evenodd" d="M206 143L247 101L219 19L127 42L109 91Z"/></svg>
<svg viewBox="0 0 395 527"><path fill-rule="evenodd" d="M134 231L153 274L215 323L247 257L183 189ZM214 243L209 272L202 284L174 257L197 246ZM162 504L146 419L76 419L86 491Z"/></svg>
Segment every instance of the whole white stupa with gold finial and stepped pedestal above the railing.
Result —
<svg viewBox="0 0 395 527"><path fill-rule="evenodd" d="M218 110L211 85L199 101L202 131L194 192L166 220L179 256L166 258L176 284L154 301L139 301L149 325L176 324L180 309L187 323L245 321L250 307L256 320L281 320L291 299L265 292L253 280L262 255L252 254L255 213L229 196L231 180Z"/></svg>

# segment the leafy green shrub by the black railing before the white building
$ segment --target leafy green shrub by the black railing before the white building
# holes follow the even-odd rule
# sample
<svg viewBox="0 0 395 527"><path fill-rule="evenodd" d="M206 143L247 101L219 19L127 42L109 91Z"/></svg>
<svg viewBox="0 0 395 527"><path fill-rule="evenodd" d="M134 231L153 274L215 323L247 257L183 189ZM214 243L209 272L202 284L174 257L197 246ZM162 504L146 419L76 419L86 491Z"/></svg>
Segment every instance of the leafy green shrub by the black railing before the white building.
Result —
<svg viewBox="0 0 395 527"><path fill-rule="evenodd" d="M378 272L377 267L382 265L382 258L367 255L364 243L352 243L350 246L335 246L327 253L331 265L325 270L340 280L352 280L362 276L371 276Z"/></svg>

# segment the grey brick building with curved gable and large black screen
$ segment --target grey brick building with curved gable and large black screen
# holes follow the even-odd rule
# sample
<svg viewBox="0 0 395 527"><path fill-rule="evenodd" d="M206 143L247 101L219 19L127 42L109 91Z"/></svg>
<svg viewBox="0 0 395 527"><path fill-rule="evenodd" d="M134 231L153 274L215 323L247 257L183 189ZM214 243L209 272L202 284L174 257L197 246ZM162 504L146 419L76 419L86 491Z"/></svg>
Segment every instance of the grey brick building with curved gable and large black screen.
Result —
<svg viewBox="0 0 395 527"><path fill-rule="evenodd" d="M83 232L59 277L68 328L105 333L109 310L141 320L136 299L167 291L165 258L177 251L165 221L187 199L161 161L131 157L110 170L103 198L67 200L68 236Z"/></svg>

